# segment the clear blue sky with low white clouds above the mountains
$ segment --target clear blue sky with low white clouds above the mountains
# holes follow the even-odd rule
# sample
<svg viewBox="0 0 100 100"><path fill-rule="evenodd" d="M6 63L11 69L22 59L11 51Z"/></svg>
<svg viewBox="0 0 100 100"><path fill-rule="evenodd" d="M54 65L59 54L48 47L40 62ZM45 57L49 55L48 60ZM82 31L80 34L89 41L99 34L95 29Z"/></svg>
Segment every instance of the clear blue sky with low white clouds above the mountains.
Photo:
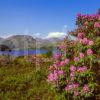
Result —
<svg viewBox="0 0 100 100"><path fill-rule="evenodd" d="M100 0L0 0L0 37L61 37L76 27L77 13L98 8Z"/></svg>

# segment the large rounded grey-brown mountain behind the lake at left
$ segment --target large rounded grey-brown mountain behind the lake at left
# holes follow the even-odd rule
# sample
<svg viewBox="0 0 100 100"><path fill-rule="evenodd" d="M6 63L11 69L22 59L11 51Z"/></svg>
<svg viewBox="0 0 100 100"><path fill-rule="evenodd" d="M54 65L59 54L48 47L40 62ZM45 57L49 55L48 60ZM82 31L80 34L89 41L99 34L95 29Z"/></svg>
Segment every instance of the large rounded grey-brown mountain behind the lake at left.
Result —
<svg viewBox="0 0 100 100"><path fill-rule="evenodd" d="M36 40L28 35L15 35L4 39L0 44L7 45L12 49L33 49L36 47Z"/></svg>

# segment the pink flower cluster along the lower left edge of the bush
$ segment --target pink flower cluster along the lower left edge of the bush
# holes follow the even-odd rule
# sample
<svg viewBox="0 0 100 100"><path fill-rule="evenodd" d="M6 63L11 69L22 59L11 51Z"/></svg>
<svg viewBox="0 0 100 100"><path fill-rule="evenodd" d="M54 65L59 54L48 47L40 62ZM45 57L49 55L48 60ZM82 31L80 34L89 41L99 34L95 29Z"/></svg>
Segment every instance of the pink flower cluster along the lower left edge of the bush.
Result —
<svg viewBox="0 0 100 100"><path fill-rule="evenodd" d="M64 59L61 60L62 55L61 54L55 54L53 56L54 58L54 64L52 66L49 67L49 75L47 78L48 82L57 82L58 79L60 78L60 76L64 75L64 71L61 70L62 66L65 66L66 64L69 63L69 59Z"/></svg>

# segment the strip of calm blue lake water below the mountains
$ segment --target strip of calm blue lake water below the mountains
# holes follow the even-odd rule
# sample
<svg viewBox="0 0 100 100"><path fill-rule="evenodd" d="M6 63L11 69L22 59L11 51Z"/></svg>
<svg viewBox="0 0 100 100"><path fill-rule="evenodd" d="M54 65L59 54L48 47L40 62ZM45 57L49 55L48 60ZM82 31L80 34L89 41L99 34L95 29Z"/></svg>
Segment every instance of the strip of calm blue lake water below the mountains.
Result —
<svg viewBox="0 0 100 100"><path fill-rule="evenodd" d="M12 50L8 51L0 51L0 55L11 55L11 56L25 56L25 55L34 55L34 54L45 54L47 50L38 49L38 50Z"/></svg>

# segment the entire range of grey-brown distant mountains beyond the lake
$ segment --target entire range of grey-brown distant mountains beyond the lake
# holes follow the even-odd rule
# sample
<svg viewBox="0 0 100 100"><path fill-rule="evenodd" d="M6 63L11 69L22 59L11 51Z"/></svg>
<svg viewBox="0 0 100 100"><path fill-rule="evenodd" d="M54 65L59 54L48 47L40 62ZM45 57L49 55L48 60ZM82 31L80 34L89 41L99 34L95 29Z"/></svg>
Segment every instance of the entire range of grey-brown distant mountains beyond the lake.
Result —
<svg viewBox="0 0 100 100"><path fill-rule="evenodd" d="M35 49L55 46L61 41L58 38L41 39L29 35L14 35L6 39L0 38L0 44L7 45L11 49Z"/></svg>

